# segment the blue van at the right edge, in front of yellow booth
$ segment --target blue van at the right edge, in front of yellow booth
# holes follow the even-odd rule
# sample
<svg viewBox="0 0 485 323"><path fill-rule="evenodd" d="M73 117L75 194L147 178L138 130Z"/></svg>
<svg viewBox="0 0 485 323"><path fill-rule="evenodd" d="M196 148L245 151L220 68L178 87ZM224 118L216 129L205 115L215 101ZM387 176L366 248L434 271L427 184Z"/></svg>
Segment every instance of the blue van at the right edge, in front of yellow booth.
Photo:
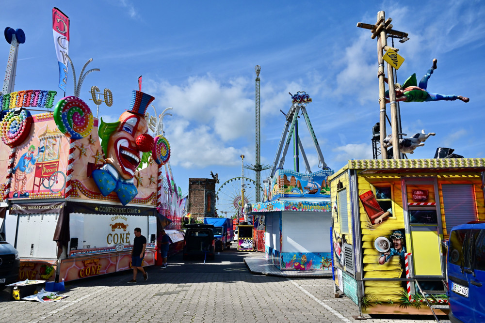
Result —
<svg viewBox="0 0 485 323"><path fill-rule="evenodd" d="M451 322L485 322L485 222L453 227L447 252Z"/></svg>

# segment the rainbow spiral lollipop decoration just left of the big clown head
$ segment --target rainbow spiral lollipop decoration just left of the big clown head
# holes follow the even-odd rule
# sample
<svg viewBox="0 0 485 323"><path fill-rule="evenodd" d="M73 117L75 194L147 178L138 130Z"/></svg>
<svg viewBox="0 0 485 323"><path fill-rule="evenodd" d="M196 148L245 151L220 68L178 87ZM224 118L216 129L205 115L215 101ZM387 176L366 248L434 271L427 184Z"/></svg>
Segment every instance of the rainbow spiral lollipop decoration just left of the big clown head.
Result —
<svg viewBox="0 0 485 323"><path fill-rule="evenodd" d="M74 140L87 137L94 125L91 109L77 96L66 96L57 102L54 121L67 138Z"/></svg>

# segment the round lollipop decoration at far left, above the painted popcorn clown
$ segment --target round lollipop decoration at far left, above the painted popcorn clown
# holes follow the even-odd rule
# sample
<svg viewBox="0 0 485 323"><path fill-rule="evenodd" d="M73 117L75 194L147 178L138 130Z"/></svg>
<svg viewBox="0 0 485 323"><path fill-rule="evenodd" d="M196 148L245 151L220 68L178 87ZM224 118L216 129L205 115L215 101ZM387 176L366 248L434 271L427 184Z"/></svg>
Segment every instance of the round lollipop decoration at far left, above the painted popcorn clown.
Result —
<svg viewBox="0 0 485 323"><path fill-rule="evenodd" d="M29 110L10 110L0 122L1 139L9 147L16 147L29 136L31 127L32 116Z"/></svg>

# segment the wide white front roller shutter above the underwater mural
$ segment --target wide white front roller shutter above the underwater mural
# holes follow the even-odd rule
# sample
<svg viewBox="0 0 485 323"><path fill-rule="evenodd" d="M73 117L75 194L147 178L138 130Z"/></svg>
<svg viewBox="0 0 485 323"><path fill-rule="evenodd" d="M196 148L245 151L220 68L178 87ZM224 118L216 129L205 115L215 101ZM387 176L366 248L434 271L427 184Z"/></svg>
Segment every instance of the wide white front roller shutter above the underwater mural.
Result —
<svg viewBox="0 0 485 323"><path fill-rule="evenodd" d="M283 212L283 252L330 252L330 212Z"/></svg>

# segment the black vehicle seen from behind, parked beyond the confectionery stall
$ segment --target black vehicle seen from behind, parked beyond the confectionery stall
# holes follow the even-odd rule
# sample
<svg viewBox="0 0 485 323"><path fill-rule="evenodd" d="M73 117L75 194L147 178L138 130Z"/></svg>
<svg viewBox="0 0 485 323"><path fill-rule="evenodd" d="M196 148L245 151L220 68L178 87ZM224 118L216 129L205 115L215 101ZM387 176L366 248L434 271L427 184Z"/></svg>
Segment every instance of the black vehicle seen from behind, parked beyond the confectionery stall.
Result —
<svg viewBox="0 0 485 323"><path fill-rule="evenodd" d="M214 259L214 228L211 224L188 224L185 226L184 246L182 258L189 256L203 256Z"/></svg>

